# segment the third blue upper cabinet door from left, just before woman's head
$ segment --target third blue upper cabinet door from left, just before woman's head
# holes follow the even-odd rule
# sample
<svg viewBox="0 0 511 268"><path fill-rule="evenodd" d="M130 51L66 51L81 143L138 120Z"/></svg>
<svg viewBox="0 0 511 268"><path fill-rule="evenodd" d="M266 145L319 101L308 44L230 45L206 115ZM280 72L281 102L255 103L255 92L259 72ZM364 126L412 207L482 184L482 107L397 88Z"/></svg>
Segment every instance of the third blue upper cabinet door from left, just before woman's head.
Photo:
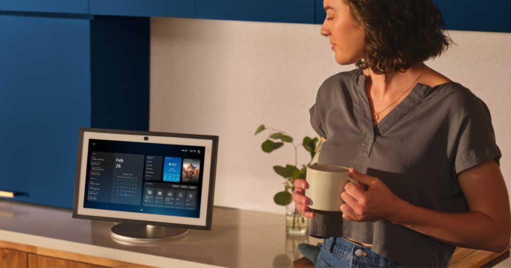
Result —
<svg viewBox="0 0 511 268"><path fill-rule="evenodd" d="M196 0L196 18L314 23L314 0Z"/></svg>

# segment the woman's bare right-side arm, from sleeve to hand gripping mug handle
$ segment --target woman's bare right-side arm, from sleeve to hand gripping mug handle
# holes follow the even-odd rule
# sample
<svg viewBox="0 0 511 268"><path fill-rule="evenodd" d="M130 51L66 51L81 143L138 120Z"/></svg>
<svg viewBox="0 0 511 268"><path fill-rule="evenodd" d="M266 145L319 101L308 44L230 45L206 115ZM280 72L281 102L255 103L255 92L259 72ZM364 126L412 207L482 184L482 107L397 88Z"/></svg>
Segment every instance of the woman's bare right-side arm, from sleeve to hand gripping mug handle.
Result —
<svg viewBox="0 0 511 268"><path fill-rule="evenodd" d="M447 213L414 206L394 196L381 180L353 170L367 191L347 184L343 217L351 221L384 218L451 245L500 252L509 245L511 213L507 188L495 160L461 172L458 180L469 212Z"/></svg>

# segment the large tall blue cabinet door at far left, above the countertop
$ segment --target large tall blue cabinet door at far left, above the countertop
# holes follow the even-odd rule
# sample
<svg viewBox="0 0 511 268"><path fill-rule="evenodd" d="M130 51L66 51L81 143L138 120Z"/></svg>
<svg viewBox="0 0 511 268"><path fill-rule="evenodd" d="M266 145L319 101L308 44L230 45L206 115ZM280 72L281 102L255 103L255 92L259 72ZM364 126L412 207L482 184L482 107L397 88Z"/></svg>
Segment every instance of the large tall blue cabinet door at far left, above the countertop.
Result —
<svg viewBox="0 0 511 268"><path fill-rule="evenodd" d="M88 19L0 14L0 190L71 208L79 127L90 126Z"/></svg>

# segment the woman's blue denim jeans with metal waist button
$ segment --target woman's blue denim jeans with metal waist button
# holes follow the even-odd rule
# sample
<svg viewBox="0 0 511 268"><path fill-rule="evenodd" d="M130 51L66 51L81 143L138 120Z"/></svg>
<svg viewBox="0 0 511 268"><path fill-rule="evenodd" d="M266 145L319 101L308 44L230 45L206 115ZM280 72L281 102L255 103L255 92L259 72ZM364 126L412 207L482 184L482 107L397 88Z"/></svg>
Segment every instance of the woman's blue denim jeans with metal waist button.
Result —
<svg viewBox="0 0 511 268"><path fill-rule="evenodd" d="M342 237L324 240L316 267L405 267Z"/></svg>

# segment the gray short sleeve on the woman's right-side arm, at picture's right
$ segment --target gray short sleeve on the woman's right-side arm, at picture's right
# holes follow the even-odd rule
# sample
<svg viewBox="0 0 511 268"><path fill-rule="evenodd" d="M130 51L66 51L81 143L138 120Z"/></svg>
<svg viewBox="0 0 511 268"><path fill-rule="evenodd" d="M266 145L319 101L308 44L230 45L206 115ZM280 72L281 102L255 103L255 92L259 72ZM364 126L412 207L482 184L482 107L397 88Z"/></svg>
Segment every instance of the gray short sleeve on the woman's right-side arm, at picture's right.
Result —
<svg viewBox="0 0 511 268"><path fill-rule="evenodd" d="M501 152L497 146L488 107L473 96L465 105L455 158L456 174L463 170L495 159L499 163Z"/></svg>

